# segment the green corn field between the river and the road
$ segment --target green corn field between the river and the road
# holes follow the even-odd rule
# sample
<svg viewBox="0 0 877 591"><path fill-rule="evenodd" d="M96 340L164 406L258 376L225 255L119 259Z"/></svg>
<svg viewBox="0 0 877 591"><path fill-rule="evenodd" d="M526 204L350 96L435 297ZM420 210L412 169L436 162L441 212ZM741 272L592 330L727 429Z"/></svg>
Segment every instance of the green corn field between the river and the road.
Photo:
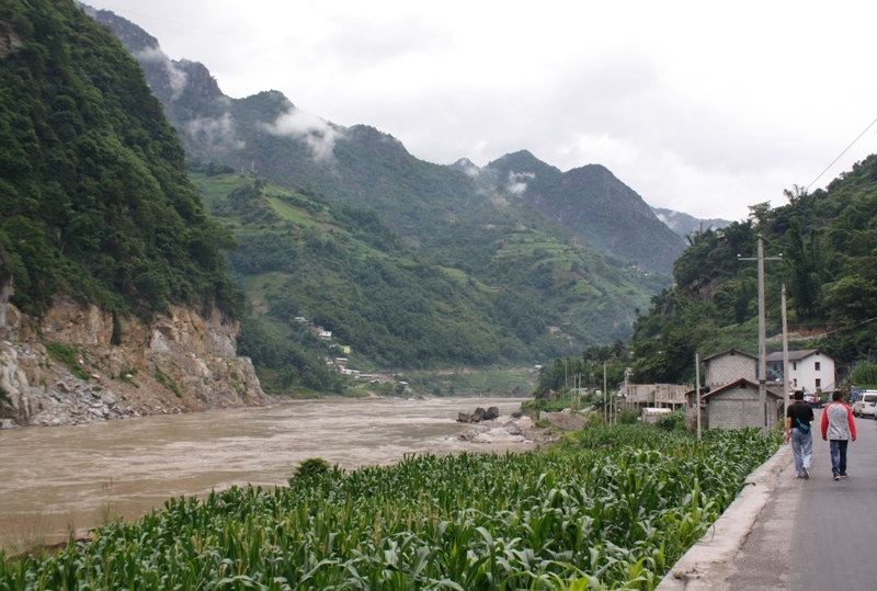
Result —
<svg viewBox="0 0 877 591"><path fill-rule="evenodd" d="M653 589L777 444L617 425L523 455L334 468L0 553L0 591Z"/></svg>

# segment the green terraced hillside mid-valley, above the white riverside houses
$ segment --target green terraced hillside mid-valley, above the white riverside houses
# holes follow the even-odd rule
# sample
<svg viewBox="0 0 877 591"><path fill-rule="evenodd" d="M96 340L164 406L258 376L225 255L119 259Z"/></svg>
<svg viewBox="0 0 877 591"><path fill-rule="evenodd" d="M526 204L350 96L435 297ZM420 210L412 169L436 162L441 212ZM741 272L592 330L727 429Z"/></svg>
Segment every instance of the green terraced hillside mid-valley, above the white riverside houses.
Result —
<svg viewBox="0 0 877 591"><path fill-rule="evenodd" d="M570 350L534 300L412 252L374 212L243 175L192 178L235 231L239 248L228 260L254 310L286 327L280 337L299 350L329 355L297 317L352 346L358 368L521 362ZM270 338L248 320L239 352L277 371L283 360L269 356L300 367L292 353L277 353L282 346L264 346Z"/></svg>

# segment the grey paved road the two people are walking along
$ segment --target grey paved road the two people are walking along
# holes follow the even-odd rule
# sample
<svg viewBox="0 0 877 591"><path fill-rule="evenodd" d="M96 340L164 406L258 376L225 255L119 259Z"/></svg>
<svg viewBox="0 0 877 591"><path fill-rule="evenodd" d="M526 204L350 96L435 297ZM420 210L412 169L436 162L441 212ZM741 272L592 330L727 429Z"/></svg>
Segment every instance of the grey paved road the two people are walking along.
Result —
<svg viewBox="0 0 877 591"><path fill-rule="evenodd" d="M817 411L817 425L821 418ZM877 589L877 422L856 419L856 429L850 478L833 480L829 444L819 435L809 480L786 466L721 589Z"/></svg>

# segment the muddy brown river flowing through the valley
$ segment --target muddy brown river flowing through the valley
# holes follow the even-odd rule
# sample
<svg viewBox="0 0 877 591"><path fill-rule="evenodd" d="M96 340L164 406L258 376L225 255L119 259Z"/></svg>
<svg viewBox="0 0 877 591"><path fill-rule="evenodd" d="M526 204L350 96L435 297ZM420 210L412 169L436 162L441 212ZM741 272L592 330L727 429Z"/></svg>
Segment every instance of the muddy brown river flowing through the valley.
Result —
<svg viewBox="0 0 877 591"><path fill-rule="evenodd" d="M0 431L0 546L82 534L115 516L136 519L180 495L283 485L309 457L350 469L411 453L527 450L533 445L448 441L465 429L457 412L496 406L508 417L520 405L509 398L308 400Z"/></svg>

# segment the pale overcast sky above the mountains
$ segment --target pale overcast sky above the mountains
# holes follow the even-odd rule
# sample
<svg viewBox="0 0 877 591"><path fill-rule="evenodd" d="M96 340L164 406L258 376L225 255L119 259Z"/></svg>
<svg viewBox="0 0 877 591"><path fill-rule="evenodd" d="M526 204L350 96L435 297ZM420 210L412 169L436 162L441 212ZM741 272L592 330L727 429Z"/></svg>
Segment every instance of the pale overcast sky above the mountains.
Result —
<svg viewBox="0 0 877 591"><path fill-rule="evenodd" d="M786 203L875 118L877 2L102 0L234 98L280 90L430 162L527 149L650 205ZM516 8L517 7L517 8ZM877 151L877 125L812 185Z"/></svg>

